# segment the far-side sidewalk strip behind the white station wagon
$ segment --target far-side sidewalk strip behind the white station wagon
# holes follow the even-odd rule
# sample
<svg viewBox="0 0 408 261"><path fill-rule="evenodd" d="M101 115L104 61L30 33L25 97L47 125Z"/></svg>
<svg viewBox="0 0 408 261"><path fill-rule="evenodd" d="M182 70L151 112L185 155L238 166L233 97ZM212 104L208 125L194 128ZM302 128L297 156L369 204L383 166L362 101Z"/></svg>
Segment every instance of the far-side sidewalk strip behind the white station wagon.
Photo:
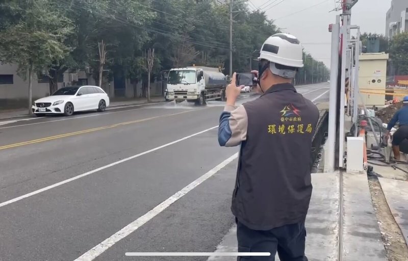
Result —
<svg viewBox="0 0 408 261"><path fill-rule="evenodd" d="M133 106L142 104L151 104L164 101L163 97L152 97L151 102L147 102L145 98L143 99L124 99L111 101L109 108L122 107L122 106ZM28 113L28 109L16 109L16 110L0 110L0 120L6 119L17 119L17 118L27 118L31 117Z"/></svg>

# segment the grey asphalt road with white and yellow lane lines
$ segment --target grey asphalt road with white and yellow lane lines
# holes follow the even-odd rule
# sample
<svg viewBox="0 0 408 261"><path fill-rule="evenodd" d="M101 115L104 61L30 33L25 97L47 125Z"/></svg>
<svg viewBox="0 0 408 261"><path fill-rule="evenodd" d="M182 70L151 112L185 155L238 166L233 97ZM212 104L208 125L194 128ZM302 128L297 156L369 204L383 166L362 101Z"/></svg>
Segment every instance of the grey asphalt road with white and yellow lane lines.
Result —
<svg viewBox="0 0 408 261"><path fill-rule="evenodd" d="M298 91L328 100L328 84ZM125 252L213 252L231 228L237 148L218 145L222 107L0 122L0 260L206 260Z"/></svg>

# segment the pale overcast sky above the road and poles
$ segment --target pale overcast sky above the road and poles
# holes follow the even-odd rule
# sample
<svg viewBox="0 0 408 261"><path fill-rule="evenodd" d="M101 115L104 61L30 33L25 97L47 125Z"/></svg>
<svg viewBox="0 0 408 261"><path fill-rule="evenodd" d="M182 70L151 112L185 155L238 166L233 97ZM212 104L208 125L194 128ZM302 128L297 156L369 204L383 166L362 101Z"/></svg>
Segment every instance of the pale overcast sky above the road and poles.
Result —
<svg viewBox="0 0 408 261"><path fill-rule="evenodd" d="M296 36L307 53L329 66L331 35L328 25L335 23L336 15L341 13L329 12L339 6L336 2L339 1L249 0L247 3L250 10L254 7L266 10L268 18L275 20L277 27ZM360 25L362 33L385 34L386 13L390 7L391 0L359 0L351 12L351 24ZM293 14L295 12L298 13Z"/></svg>

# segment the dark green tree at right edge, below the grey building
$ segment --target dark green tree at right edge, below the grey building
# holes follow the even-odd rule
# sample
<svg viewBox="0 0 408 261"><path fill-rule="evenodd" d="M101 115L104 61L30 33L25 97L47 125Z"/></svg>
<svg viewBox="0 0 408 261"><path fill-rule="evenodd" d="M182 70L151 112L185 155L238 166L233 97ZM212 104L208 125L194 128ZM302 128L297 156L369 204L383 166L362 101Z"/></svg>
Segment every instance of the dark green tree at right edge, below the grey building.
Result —
<svg viewBox="0 0 408 261"><path fill-rule="evenodd" d="M390 58L396 75L408 74L408 33L397 34L392 38Z"/></svg>

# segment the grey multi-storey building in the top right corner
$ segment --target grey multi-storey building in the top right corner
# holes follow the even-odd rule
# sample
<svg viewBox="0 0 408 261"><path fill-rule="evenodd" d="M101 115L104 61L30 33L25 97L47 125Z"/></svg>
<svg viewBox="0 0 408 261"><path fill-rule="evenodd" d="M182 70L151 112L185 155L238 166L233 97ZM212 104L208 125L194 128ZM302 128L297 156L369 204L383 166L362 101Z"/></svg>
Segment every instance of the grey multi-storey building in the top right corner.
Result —
<svg viewBox="0 0 408 261"><path fill-rule="evenodd" d="M407 31L408 1L392 0L386 17L386 36L392 38L396 34Z"/></svg>

